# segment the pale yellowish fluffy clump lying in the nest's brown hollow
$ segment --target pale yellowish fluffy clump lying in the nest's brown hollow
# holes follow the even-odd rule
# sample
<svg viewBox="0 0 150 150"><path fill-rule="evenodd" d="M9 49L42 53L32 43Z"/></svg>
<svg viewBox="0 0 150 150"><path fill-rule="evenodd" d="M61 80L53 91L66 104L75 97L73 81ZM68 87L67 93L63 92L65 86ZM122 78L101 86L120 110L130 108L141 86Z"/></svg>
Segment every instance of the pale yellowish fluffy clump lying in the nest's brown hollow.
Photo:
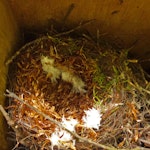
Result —
<svg viewBox="0 0 150 150"><path fill-rule="evenodd" d="M47 73L48 77L51 78L52 83L56 83L57 79L62 78L63 81L71 83L73 86L73 92L85 93L85 83L81 78L71 73L68 69L63 67L57 67L54 65L55 60L47 56L41 56L42 69Z"/></svg>

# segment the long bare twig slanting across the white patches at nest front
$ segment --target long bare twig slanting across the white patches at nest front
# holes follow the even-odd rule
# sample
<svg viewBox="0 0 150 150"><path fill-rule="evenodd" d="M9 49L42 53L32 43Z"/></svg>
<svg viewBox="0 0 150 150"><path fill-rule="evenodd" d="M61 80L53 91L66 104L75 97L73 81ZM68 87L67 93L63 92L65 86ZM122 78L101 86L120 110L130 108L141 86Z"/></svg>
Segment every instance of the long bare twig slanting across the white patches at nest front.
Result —
<svg viewBox="0 0 150 150"><path fill-rule="evenodd" d="M13 92L10 92L9 90L6 90L7 94L5 94L8 97L14 98L19 100L21 103L25 104L26 106L28 106L30 109L34 110L35 112L37 112L38 114L42 115L45 119L50 120L51 122L53 122L54 124L56 124L57 126L59 126L60 128L66 130L67 132L69 132L72 136L74 136L75 138L79 139L82 142L86 142L89 144L92 144L96 147L100 147L100 148L104 148L106 150L117 150L116 148L113 147L108 147L99 143L96 143L90 139L87 138L83 138L81 136L79 136L77 133L75 132L71 132L70 130L68 130L66 127L64 127L60 122L58 122L57 120L54 120L53 118L49 117L48 115L46 115L45 113L39 111L38 109L36 109L35 107L31 106L30 104L28 104L27 102L25 102L23 99L19 98L16 94L14 94Z"/></svg>

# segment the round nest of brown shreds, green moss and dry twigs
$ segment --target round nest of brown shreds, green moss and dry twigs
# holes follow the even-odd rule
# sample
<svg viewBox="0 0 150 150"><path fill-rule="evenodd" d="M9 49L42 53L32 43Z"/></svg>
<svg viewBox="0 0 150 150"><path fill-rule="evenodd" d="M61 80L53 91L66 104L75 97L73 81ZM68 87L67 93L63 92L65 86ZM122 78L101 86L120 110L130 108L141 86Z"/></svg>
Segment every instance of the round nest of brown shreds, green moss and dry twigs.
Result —
<svg viewBox="0 0 150 150"><path fill-rule="evenodd" d="M30 149L140 146L149 123L140 112L148 113L150 86L127 51L46 36L10 61L6 95L18 143Z"/></svg>

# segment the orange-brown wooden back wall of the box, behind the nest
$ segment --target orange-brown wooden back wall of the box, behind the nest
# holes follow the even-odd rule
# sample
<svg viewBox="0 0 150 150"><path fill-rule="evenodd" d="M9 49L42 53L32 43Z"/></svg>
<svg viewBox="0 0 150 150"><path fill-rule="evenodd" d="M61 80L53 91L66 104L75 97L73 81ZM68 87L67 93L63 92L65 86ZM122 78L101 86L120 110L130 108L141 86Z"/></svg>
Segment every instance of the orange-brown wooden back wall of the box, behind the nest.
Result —
<svg viewBox="0 0 150 150"><path fill-rule="evenodd" d="M100 35L121 49L131 48L136 58L150 64L150 9L144 0L27 0L11 1L13 12L23 28L39 29L60 23L63 27L74 28L89 20L86 29L93 36ZM55 24L54 24L55 25Z"/></svg>

